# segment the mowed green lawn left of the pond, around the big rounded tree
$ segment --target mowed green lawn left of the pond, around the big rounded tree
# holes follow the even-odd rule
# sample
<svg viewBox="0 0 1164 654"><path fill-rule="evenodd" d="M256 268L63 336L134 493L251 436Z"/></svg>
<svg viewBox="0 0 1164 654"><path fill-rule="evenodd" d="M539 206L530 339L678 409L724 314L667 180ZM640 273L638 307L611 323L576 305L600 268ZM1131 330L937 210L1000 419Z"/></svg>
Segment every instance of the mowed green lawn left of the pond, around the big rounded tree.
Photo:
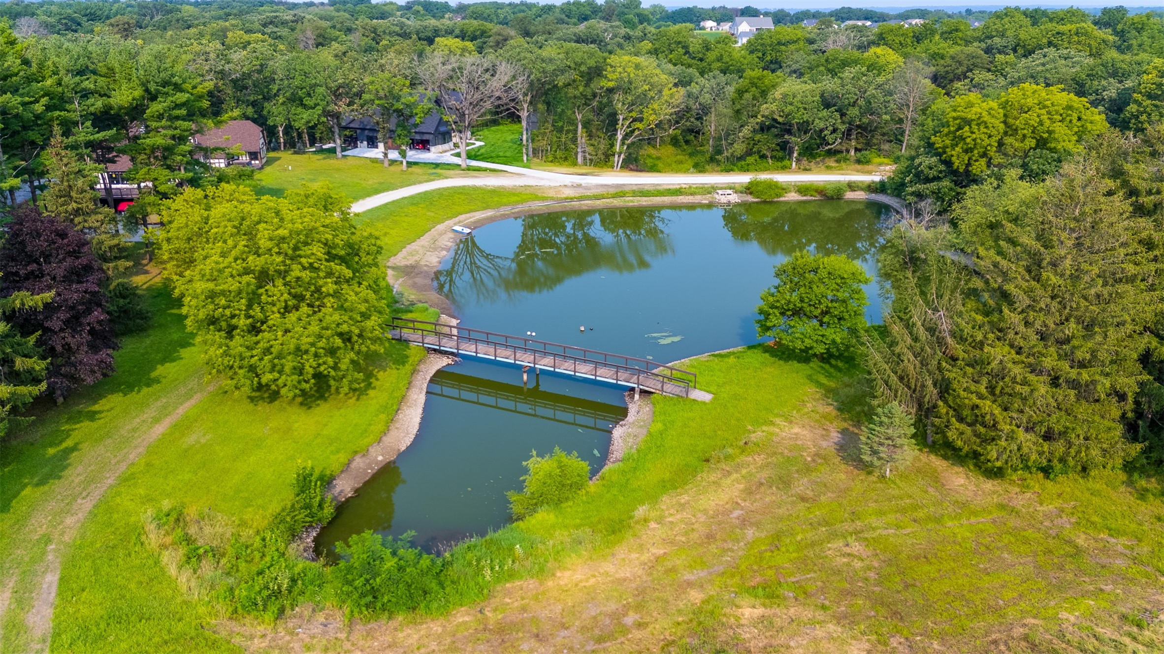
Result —
<svg viewBox="0 0 1164 654"><path fill-rule="evenodd" d="M539 197L449 189L356 219L377 234L386 260L460 213ZM119 461L128 469L83 516L76 539L54 547L62 566L52 649L234 651L204 628L214 617L208 605L183 597L144 548L142 514L186 504L214 509L240 528L261 526L290 498L297 464L338 472L383 433L423 356L419 348L391 343L365 392L310 406L211 390L144 454L135 454L135 443L151 426L207 392L200 350L185 330L179 304L157 278L146 290L155 308L154 325L126 339L116 355L118 372L59 407L45 406L30 428L0 450L0 562L2 581L13 580L9 610L0 618L3 651L34 647L26 617L43 582L47 548L73 513L77 498L101 483L102 474ZM136 462L126 461L139 455Z"/></svg>

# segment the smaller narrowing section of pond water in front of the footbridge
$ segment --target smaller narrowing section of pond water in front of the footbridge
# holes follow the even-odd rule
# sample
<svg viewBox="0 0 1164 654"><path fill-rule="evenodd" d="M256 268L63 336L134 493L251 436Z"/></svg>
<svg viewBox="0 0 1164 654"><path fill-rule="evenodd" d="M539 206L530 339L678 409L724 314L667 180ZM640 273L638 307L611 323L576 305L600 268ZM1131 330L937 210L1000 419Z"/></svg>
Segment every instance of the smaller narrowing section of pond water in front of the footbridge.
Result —
<svg viewBox="0 0 1164 654"><path fill-rule="evenodd" d="M577 452L596 472L611 428L626 417L619 389L546 372L523 388L512 367L464 361L456 369L433 376L416 440L340 505L315 540L320 555L334 556L336 541L364 529L414 531L428 552L485 534L509 521L505 491L520 486L530 450Z"/></svg>

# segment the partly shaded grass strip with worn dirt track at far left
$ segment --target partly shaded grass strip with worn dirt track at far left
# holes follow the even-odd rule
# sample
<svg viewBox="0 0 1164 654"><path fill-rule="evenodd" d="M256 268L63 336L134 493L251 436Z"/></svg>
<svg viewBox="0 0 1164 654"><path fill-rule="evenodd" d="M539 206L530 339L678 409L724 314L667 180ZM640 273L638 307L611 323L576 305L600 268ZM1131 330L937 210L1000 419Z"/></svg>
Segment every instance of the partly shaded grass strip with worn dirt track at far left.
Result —
<svg viewBox="0 0 1164 654"><path fill-rule="evenodd" d="M0 561L10 589L0 647L45 651L61 561L109 485L205 392L176 303L147 286L155 326L126 339L118 375L42 410L0 450Z"/></svg>

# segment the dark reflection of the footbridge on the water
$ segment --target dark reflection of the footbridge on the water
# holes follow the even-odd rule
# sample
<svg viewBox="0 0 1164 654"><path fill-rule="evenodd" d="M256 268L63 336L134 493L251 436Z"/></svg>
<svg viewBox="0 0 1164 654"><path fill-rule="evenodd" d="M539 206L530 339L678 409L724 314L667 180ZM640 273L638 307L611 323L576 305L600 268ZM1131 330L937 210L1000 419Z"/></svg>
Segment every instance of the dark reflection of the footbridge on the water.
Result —
<svg viewBox="0 0 1164 654"><path fill-rule="evenodd" d="M609 432L626 417L626 407L532 388L440 370L428 382L428 394L533 415L563 425Z"/></svg>

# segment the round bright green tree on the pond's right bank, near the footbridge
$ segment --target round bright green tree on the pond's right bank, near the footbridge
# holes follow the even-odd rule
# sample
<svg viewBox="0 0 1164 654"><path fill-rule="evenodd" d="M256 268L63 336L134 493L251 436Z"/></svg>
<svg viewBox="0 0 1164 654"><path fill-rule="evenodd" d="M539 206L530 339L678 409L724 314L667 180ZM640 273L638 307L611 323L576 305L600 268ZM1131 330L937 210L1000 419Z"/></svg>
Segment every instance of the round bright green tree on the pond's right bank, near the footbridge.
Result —
<svg viewBox="0 0 1164 654"><path fill-rule="evenodd" d="M776 265L775 276L755 308L758 336L824 358L845 354L865 330L868 299L861 285L871 278L852 260L800 251Z"/></svg>

